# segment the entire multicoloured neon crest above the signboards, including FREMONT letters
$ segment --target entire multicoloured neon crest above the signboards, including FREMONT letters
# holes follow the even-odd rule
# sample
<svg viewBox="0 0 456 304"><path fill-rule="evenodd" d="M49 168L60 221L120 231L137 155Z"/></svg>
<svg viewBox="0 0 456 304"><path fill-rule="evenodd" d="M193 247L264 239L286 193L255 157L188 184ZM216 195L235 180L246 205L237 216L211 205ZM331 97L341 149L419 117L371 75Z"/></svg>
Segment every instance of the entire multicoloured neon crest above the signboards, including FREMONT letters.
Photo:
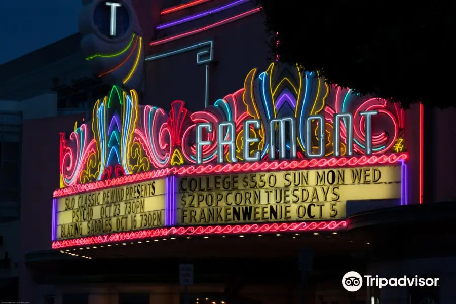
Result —
<svg viewBox="0 0 456 304"><path fill-rule="evenodd" d="M134 90L113 87L95 103L91 123L75 125L69 138L61 133L60 187L181 165L325 157L356 165L360 156L375 164L378 155L391 163L405 155L396 104L329 87L296 68L271 64L256 74L193 113L179 100L169 112L140 106Z"/></svg>

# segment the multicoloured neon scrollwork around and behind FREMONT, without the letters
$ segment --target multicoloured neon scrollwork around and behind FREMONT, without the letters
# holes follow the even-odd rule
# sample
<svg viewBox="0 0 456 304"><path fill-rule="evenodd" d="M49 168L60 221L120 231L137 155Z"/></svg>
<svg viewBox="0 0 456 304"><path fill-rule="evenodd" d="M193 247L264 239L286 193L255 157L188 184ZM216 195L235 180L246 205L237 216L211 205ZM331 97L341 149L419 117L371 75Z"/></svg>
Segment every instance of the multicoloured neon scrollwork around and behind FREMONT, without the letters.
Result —
<svg viewBox="0 0 456 304"><path fill-rule="evenodd" d="M377 110L372 119L373 153L391 154L406 151L404 112L386 100L362 97L351 90L329 87L324 79L312 72L271 64L257 75L252 69L244 87L216 100L202 111L190 112L183 101L171 103L171 110L138 105L134 90L129 93L114 86L110 94L98 100L93 110L92 132L86 124L77 127L69 140L61 134L61 187L73 187L104 178L116 178L156 169L195 164L196 124L211 123L212 133L203 132L203 140L212 141L202 150L203 163L216 162L217 124L232 121L236 126L236 158L243 161L243 121L261 120L261 129L250 129L250 151L261 151L261 160L269 156L269 132L265 128L273 119L294 116L296 119L297 159L305 159L306 118L325 117L325 157L334 156L333 116L351 112L354 118L354 156L364 155L364 117L360 111ZM312 150L318 150L319 126L311 125ZM347 122L340 124L340 156L346 155ZM225 131L224 131L225 132ZM223 134L228 139L229 132ZM319 135L320 136L320 135ZM290 155L287 139L287 157ZM398 149L398 143L401 149ZM224 146L224 161L229 162L229 146ZM372 156L369 156L372 158ZM335 158L337 159L337 158ZM164 171L165 172L165 171ZM167 171L172 173L171 171ZM165 174L165 173L164 173Z"/></svg>

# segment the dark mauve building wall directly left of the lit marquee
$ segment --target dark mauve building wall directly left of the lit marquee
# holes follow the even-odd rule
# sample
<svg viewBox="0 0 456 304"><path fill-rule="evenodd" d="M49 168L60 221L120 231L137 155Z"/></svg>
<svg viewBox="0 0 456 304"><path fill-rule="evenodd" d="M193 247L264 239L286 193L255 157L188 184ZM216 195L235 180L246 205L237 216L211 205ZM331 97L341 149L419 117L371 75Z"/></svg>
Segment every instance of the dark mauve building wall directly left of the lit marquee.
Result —
<svg viewBox="0 0 456 304"><path fill-rule="evenodd" d="M25 267L25 254L51 249L52 193L59 187L59 132L69 135L83 115L27 120L22 131L19 300L35 298L36 284Z"/></svg>

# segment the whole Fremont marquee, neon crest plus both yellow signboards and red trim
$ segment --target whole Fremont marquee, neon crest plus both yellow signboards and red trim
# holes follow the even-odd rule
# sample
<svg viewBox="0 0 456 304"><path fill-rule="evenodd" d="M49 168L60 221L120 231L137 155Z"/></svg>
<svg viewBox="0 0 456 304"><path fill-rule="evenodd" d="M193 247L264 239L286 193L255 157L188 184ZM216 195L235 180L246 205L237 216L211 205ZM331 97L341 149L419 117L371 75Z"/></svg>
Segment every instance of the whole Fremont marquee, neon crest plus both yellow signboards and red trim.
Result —
<svg viewBox="0 0 456 304"><path fill-rule="evenodd" d="M271 223L338 229L351 202L407 204L405 113L394 103L276 64L201 111L138 99L113 86L91 122L60 133L55 248Z"/></svg>

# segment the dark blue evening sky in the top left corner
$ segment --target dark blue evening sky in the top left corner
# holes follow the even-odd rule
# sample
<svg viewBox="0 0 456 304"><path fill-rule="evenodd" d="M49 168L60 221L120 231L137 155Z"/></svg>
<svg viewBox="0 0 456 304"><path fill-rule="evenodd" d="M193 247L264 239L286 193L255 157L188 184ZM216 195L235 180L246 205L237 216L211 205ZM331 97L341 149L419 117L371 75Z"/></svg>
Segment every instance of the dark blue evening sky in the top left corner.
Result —
<svg viewBox="0 0 456 304"><path fill-rule="evenodd" d="M78 32L81 0L0 0L0 64Z"/></svg>

